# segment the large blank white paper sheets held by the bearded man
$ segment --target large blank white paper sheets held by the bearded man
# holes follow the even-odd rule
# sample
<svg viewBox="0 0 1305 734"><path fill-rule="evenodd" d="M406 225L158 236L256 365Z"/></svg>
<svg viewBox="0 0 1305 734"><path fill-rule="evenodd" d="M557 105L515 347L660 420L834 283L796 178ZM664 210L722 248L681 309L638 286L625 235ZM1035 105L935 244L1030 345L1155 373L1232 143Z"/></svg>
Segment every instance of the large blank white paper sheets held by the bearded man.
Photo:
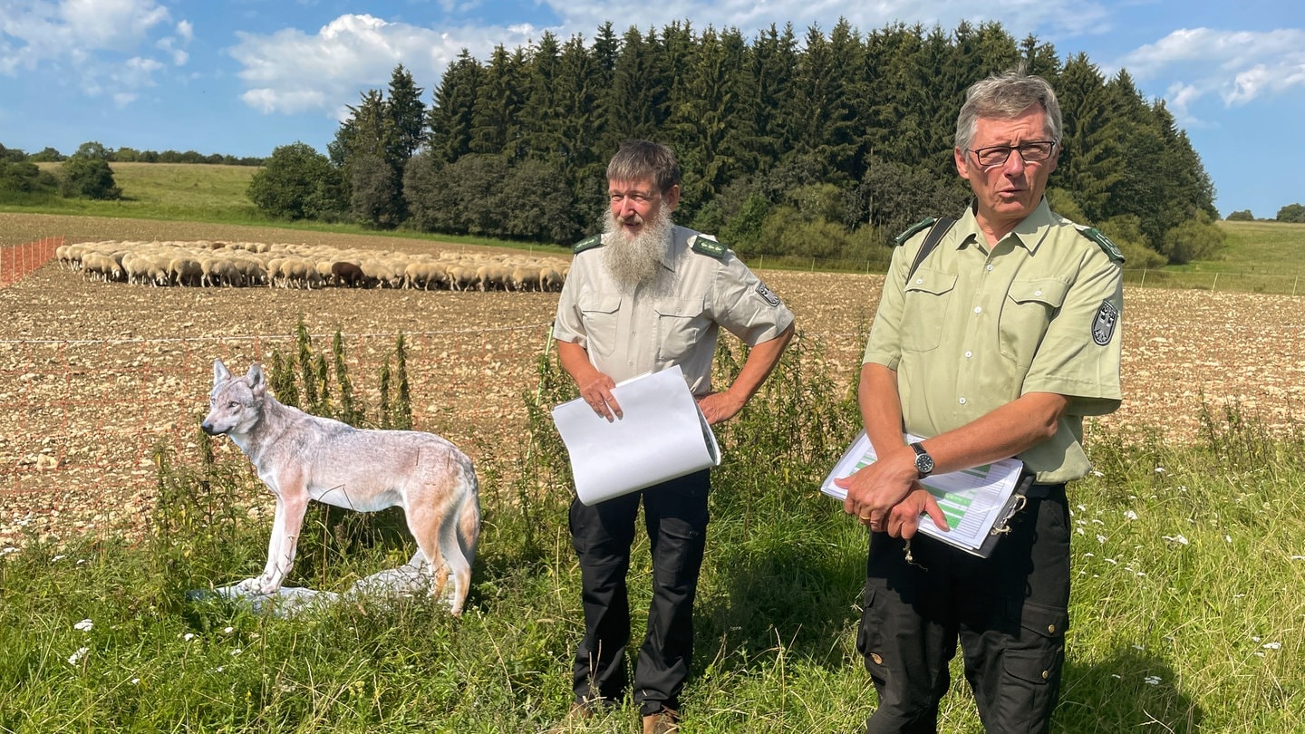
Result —
<svg viewBox="0 0 1305 734"><path fill-rule="evenodd" d="M553 407L576 494L585 504L625 495L720 464L720 448L680 366L612 388L622 418L608 422L582 398Z"/></svg>

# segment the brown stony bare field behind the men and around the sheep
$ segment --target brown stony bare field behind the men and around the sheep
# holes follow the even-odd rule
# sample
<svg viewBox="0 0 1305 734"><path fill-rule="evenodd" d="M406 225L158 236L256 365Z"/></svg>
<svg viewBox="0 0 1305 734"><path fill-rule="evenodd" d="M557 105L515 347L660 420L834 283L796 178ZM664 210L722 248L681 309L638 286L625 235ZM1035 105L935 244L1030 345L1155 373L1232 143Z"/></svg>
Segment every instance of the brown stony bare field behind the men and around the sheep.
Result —
<svg viewBox="0 0 1305 734"><path fill-rule="evenodd" d="M256 239L446 249L437 243L291 230L93 218L18 218L0 244L81 239ZM881 276L762 272L827 346L821 368L851 384ZM211 363L234 371L284 351L303 319L325 347L341 330L371 384L403 332L418 427L478 461L513 456L523 396L556 294L328 289L154 289L89 282L51 263L0 289L0 547L30 537L140 528L153 502L150 449L193 451ZM1105 426L1191 440L1203 404L1275 431L1305 410L1305 298L1208 291L1125 294L1124 407ZM375 387L375 385L373 385ZM365 385L364 385L365 388ZM224 443L224 441L223 441Z"/></svg>

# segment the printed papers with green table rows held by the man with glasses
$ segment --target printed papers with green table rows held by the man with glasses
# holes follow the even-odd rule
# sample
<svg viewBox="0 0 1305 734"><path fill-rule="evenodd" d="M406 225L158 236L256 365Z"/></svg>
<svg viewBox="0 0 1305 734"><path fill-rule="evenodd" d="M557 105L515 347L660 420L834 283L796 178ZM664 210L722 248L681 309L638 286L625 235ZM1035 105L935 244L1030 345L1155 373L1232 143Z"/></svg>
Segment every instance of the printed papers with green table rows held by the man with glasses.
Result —
<svg viewBox="0 0 1305 734"><path fill-rule="evenodd" d="M906 440L914 443L924 439L907 435ZM835 485L834 479L869 466L876 458L874 448L865 438L865 431L861 431L825 478L821 491L846 500L847 490ZM921 515L920 532L968 554L987 558L1001 537L1000 530L1019 507L1019 496L1014 495L1014 491L1019 485L1023 466L1024 462L1018 458L1004 458L960 471L925 477L920 485L938 500L938 507L951 529L942 530L934 525L933 519Z"/></svg>

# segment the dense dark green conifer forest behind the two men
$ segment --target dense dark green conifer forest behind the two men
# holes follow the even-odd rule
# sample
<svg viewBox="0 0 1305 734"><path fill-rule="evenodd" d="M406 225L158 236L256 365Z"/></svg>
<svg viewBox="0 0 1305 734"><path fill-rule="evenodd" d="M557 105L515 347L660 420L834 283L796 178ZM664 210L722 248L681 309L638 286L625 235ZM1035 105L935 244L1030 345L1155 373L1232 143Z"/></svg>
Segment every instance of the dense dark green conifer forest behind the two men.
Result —
<svg viewBox="0 0 1305 734"><path fill-rule="evenodd" d="M966 205L951 159L964 90L1018 64L1052 82L1065 116L1053 209L1101 229L1130 266L1220 244L1214 185L1163 101L1126 69L1107 77L996 22L750 37L608 22L484 60L463 51L429 103L399 65L325 154L277 148L249 193L284 218L568 244L598 229L606 162L641 137L680 157L676 219L741 255L882 260L912 222Z"/></svg>

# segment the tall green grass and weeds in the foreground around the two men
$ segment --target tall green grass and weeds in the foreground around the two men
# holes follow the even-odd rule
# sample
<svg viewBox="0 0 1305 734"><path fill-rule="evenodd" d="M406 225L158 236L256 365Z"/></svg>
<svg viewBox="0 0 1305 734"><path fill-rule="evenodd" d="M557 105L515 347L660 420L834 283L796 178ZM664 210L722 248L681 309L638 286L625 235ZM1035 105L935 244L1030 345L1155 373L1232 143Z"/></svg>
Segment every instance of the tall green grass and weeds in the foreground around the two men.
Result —
<svg viewBox="0 0 1305 734"><path fill-rule="evenodd" d="M308 374L330 381L307 351ZM743 354L718 357L727 377ZM820 357L799 340L719 431L686 731L857 731L876 704L855 652L867 538L817 490L856 430L852 376L822 376ZM338 383L329 392L338 409ZM542 357L518 451L487 438L476 452L484 530L461 619L427 598L292 619L192 601L258 572L269 495L198 431L194 455L158 452L150 537L31 538L0 558L0 730L548 730L582 632L569 468L548 419L573 394ZM1098 471L1070 494L1077 576L1054 731L1305 730L1305 436L1261 426L1232 406L1208 413L1193 445L1091 427ZM305 528L288 584L343 590L412 552L330 522ZM649 576L641 539L636 610ZM980 731L954 679L942 730ZM626 705L576 730L633 733L637 720Z"/></svg>

